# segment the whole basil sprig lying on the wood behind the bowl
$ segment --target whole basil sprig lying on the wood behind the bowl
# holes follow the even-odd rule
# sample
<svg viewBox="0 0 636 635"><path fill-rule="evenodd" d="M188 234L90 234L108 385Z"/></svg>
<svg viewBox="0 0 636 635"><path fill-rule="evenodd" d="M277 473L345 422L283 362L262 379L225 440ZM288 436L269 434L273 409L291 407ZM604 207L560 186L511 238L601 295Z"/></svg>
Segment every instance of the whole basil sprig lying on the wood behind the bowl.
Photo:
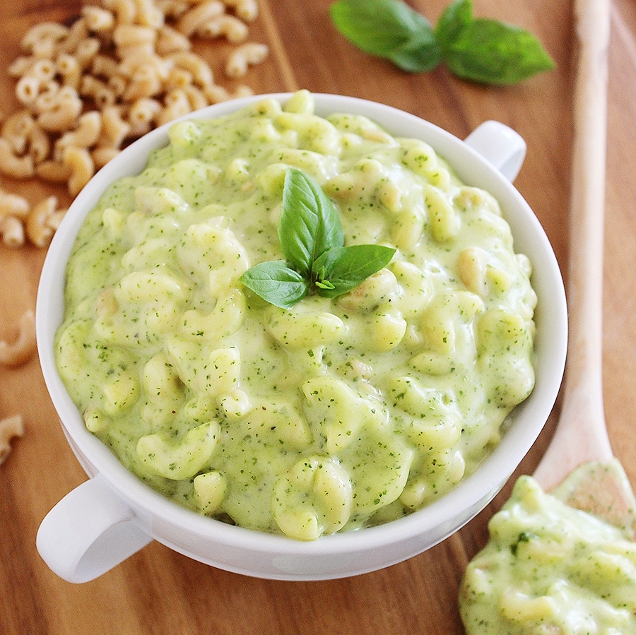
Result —
<svg viewBox="0 0 636 635"><path fill-rule="evenodd" d="M401 0L338 0L330 13L360 50L411 73L432 71L443 62L462 79L510 85L555 66L530 32L474 18L471 0L452 2L435 28Z"/></svg>

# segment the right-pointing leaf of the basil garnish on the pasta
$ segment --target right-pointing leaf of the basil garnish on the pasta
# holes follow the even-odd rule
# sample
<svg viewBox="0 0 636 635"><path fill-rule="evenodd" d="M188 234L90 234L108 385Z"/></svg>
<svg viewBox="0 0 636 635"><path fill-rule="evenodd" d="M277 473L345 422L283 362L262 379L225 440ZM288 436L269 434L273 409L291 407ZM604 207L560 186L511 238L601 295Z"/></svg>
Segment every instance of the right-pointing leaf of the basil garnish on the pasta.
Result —
<svg viewBox="0 0 636 635"><path fill-rule="evenodd" d="M338 297L357 287L370 275L387 266L395 249L384 245L361 244L325 251L312 269L317 294Z"/></svg>

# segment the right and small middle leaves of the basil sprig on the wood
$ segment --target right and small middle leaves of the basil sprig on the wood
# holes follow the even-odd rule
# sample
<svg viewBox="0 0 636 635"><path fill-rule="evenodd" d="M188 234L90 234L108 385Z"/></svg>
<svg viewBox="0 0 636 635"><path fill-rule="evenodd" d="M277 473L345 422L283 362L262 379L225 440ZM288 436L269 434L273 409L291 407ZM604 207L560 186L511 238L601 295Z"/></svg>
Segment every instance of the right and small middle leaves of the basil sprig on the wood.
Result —
<svg viewBox="0 0 636 635"><path fill-rule="evenodd" d="M510 85L554 68L531 32L498 20L471 17L470 0L458 0L442 14L436 33L444 64L456 76Z"/></svg>

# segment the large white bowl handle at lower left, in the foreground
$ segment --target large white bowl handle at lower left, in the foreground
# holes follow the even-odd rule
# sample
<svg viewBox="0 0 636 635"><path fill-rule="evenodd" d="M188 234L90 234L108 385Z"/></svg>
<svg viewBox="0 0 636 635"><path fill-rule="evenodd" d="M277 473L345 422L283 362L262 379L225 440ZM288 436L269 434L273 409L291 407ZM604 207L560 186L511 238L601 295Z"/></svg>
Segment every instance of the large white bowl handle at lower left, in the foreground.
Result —
<svg viewBox="0 0 636 635"><path fill-rule="evenodd" d="M145 547L152 538L100 475L73 489L37 530L40 556L69 582L88 582Z"/></svg>

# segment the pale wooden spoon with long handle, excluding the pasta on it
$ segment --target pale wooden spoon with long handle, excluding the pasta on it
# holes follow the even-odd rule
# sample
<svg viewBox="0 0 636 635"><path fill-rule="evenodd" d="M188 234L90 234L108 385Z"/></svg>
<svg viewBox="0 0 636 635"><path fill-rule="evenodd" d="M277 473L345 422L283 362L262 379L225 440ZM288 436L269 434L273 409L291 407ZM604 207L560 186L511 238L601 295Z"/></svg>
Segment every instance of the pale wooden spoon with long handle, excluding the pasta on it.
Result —
<svg viewBox="0 0 636 635"><path fill-rule="evenodd" d="M610 0L575 0L579 59L570 199L567 369L558 426L534 477L543 489L552 490L567 504L601 516L636 538L636 499L622 465L613 456L601 380L610 8Z"/></svg>

